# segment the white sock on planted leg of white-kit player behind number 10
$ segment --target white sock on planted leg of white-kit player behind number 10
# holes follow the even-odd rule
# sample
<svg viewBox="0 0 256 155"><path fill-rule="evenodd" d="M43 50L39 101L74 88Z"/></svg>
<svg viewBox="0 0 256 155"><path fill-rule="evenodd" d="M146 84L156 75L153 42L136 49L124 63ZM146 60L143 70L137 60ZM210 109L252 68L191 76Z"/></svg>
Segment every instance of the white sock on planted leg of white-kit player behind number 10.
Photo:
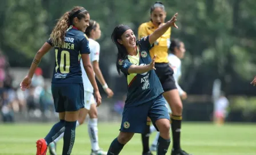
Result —
<svg viewBox="0 0 256 155"><path fill-rule="evenodd" d="M89 119L88 133L89 133L90 140L91 140L91 149L92 150L99 150L98 119Z"/></svg>

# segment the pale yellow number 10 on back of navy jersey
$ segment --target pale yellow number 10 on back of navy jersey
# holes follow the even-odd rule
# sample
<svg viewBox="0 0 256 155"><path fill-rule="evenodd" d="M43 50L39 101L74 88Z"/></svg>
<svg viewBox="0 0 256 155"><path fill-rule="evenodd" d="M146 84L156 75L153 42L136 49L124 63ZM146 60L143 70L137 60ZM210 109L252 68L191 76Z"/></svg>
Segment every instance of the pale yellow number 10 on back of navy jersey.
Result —
<svg viewBox="0 0 256 155"><path fill-rule="evenodd" d="M61 51L61 61L58 64L58 50L55 49L56 67L55 71L61 71L61 74L68 74L70 68L70 54L69 51Z"/></svg>

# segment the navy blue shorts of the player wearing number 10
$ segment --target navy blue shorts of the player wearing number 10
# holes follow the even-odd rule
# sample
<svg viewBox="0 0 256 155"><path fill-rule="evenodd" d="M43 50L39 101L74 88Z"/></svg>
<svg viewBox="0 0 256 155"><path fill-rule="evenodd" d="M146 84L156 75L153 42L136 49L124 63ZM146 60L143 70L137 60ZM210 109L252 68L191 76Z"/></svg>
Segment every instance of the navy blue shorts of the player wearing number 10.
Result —
<svg viewBox="0 0 256 155"><path fill-rule="evenodd" d="M85 107L82 83L52 83L51 93L55 112L78 111Z"/></svg>

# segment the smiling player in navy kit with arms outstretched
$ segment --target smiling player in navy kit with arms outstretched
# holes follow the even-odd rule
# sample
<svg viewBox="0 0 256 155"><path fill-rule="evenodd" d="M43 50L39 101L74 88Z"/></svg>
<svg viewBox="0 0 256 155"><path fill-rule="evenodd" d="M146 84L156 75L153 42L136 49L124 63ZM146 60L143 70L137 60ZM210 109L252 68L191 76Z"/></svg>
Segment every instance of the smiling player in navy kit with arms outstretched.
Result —
<svg viewBox="0 0 256 155"><path fill-rule="evenodd" d="M160 132L157 154L166 154L170 145L170 116L163 99L163 89L155 74L155 58L151 59L149 48L170 26L177 27L177 14L149 36L136 41L129 26L115 27L111 38L118 48L117 71L125 74L128 85L127 99L123 109L122 125L117 138L111 143L107 154L119 154L134 133L144 133L147 116ZM178 28L178 27L177 27Z"/></svg>

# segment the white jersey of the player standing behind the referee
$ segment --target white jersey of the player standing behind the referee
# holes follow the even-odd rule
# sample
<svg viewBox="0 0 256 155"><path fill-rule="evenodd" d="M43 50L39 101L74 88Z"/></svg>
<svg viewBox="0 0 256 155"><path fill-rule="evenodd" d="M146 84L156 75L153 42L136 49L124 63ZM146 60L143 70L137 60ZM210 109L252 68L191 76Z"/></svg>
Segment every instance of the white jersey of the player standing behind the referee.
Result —
<svg viewBox="0 0 256 155"><path fill-rule="evenodd" d="M182 95L182 93L184 91L182 90L182 88L178 84L178 81L181 78L181 74L182 74L182 72L181 72L181 59L179 59L174 54L169 54L168 55L168 60L169 60L169 64L170 64L171 68L173 68L173 71L174 71L173 76L174 76L174 79L175 79L176 87L179 91L179 95Z"/></svg>

